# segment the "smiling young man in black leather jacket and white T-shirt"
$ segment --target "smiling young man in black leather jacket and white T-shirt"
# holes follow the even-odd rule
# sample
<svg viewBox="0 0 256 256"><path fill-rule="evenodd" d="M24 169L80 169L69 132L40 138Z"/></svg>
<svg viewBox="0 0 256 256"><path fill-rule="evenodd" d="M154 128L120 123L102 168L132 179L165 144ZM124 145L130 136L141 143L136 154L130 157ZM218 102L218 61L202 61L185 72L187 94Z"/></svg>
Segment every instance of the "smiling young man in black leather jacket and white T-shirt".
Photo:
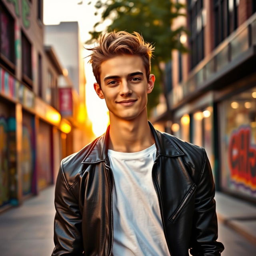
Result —
<svg viewBox="0 0 256 256"><path fill-rule="evenodd" d="M205 150L147 120L153 47L122 31L100 36L91 50L110 126L61 162L52 256L220 255Z"/></svg>

